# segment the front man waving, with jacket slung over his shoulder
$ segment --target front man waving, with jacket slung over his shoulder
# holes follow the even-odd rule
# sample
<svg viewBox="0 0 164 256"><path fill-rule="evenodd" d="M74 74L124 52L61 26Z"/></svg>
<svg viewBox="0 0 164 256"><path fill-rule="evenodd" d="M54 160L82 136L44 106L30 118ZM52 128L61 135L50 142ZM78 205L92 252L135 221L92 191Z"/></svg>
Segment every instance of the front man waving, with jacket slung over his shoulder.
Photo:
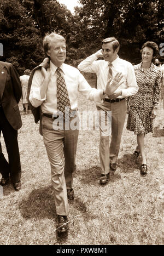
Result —
<svg viewBox="0 0 164 256"><path fill-rule="evenodd" d="M78 122L78 92L89 100L102 101L104 94L110 95L118 88L122 75L119 72L116 73L115 77L108 81L104 91L91 88L78 69L64 64L66 59L64 37L50 33L44 37L43 47L49 62L45 65L46 60L44 60L43 64L38 66L40 69L35 68L32 71L30 77L30 83L32 83L31 85L28 83L29 100L33 107L41 106L42 133L51 165L57 229L59 232L66 232L68 230L68 199L74 198L72 183L79 133L78 125L75 124ZM65 106L70 110L69 113L62 111L63 104L66 104ZM36 118L37 121L38 119ZM61 120L63 126L57 127L57 123L61 124ZM71 129L71 123L74 124L75 129Z"/></svg>

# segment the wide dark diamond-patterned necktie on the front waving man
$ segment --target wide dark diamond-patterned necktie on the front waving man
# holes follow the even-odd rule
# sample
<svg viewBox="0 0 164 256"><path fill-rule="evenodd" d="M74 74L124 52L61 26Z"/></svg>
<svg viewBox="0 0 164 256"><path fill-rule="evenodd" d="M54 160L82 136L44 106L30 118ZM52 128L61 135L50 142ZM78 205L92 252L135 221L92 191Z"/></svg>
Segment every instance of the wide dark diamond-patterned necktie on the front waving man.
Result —
<svg viewBox="0 0 164 256"><path fill-rule="evenodd" d="M66 87L65 78L61 73L60 67L57 68L57 112L61 111L66 121L69 120L71 113L71 104L69 100L68 90ZM58 113L59 114L59 113Z"/></svg>

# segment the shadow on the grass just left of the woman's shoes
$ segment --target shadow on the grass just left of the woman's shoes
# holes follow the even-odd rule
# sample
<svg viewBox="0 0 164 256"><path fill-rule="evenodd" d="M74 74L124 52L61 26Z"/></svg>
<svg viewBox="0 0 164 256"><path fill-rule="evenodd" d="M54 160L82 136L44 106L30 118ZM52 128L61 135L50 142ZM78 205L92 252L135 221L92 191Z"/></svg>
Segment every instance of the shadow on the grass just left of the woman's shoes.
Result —
<svg viewBox="0 0 164 256"><path fill-rule="evenodd" d="M118 168L124 173L134 172L140 167L140 157L133 158L132 154L125 154L118 159Z"/></svg>

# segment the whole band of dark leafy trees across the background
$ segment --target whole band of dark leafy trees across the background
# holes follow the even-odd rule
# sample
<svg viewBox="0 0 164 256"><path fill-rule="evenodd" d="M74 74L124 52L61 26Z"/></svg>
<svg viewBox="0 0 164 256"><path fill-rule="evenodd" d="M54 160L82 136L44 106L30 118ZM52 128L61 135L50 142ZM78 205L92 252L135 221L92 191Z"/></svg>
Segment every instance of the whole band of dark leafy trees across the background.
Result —
<svg viewBox="0 0 164 256"><path fill-rule="evenodd" d="M56 0L1 0L0 43L4 61L10 61L22 75L44 58L45 33L56 32L67 42L66 62L79 60L101 48L105 37L120 42L121 58L137 63L145 41L163 40L163 10L160 0L79 0L75 14ZM162 60L162 57L159 59Z"/></svg>

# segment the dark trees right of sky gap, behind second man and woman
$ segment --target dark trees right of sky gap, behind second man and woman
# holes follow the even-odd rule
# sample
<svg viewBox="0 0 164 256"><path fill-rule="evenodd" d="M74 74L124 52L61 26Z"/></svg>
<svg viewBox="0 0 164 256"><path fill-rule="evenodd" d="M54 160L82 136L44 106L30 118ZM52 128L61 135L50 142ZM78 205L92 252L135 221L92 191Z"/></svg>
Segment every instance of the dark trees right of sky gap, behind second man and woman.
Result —
<svg viewBox="0 0 164 256"><path fill-rule="evenodd" d="M115 36L121 44L120 55L127 60L138 62L139 48L145 41L151 40L157 44L162 42L163 1L79 0L79 2L83 6L78 10L77 15L81 16L81 22L87 20L87 29L84 26L87 32L84 35L94 48L97 46L98 49L102 38Z"/></svg>

